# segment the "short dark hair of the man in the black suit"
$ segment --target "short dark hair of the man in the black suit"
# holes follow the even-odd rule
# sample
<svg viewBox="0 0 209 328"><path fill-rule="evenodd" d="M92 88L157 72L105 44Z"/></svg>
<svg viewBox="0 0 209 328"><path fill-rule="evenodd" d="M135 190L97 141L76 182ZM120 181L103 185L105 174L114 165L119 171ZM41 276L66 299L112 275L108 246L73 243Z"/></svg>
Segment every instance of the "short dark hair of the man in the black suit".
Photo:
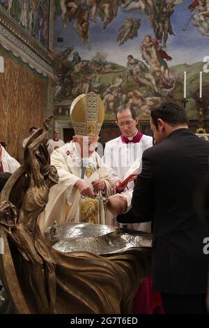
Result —
<svg viewBox="0 0 209 328"><path fill-rule="evenodd" d="M150 113L153 124L158 128L157 119L177 126L179 124L188 124L185 107L177 101L164 100L153 106Z"/></svg>

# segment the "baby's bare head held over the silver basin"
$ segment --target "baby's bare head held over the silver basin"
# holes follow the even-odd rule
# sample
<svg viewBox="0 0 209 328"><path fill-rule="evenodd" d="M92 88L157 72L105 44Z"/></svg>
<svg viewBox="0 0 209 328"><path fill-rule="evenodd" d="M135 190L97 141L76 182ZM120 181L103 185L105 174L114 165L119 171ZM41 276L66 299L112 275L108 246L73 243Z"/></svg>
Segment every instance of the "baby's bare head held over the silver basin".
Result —
<svg viewBox="0 0 209 328"><path fill-rule="evenodd" d="M127 209L126 198L119 193L110 196L107 200L107 209L109 209L109 211L113 215L119 215L124 213Z"/></svg>

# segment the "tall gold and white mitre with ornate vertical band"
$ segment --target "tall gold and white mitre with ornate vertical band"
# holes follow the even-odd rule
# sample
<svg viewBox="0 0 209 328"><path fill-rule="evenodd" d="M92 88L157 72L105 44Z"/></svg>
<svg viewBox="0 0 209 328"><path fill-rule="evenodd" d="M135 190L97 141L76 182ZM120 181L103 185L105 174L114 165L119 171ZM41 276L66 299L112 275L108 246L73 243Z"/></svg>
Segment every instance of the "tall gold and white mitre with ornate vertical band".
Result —
<svg viewBox="0 0 209 328"><path fill-rule="evenodd" d="M70 107L70 117L75 135L98 136L104 121L102 99L94 92L77 96Z"/></svg>

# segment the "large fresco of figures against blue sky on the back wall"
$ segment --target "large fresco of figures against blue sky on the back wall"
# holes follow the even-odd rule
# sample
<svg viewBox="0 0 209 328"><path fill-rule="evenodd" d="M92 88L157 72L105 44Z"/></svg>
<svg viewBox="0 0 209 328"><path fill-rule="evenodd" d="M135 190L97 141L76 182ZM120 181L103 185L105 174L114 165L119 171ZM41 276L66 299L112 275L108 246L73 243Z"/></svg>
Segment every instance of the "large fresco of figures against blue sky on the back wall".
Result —
<svg viewBox="0 0 209 328"><path fill-rule="evenodd" d="M88 91L102 97L106 121L126 103L148 119L156 101L183 100L184 71L187 113L198 119L200 71L209 100L208 17L209 0L56 0L56 119L68 119L73 98Z"/></svg>

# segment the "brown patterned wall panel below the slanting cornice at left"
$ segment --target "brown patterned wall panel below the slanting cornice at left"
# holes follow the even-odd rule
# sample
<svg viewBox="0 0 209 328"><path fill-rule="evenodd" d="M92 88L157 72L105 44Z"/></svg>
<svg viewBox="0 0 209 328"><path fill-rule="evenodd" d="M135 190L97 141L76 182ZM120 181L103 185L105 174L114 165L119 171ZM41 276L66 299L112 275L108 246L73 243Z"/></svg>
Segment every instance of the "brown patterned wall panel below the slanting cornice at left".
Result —
<svg viewBox="0 0 209 328"><path fill-rule="evenodd" d="M22 162L22 141L31 126L42 127L47 105L47 79L15 59L0 45L4 73L0 73L0 140L6 150Z"/></svg>

